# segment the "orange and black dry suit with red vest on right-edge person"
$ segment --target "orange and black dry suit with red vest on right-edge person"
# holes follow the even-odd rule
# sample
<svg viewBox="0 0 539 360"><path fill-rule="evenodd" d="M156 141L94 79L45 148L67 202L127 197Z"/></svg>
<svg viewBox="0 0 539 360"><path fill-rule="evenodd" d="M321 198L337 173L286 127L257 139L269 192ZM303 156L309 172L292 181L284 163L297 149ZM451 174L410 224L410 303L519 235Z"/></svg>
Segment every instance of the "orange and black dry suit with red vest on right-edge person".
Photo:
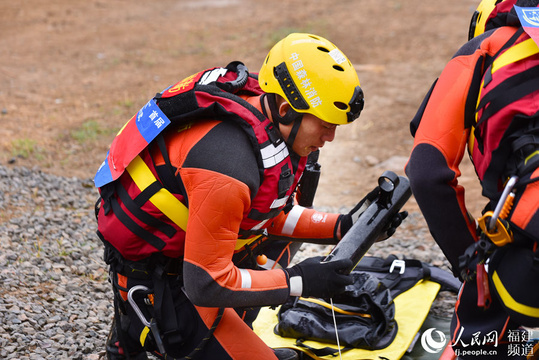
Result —
<svg viewBox="0 0 539 360"><path fill-rule="evenodd" d="M458 183L466 149L492 210L508 177L520 177L508 220L515 240L539 239L538 69L539 48L522 28L486 32L451 59L411 123L415 141L406 174L455 274L459 257L477 241L476 222ZM465 283L457 302L454 346L469 346L473 336L489 332L501 343L507 329L518 327L496 303L488 311L478 308L475 288Z"/></svg>

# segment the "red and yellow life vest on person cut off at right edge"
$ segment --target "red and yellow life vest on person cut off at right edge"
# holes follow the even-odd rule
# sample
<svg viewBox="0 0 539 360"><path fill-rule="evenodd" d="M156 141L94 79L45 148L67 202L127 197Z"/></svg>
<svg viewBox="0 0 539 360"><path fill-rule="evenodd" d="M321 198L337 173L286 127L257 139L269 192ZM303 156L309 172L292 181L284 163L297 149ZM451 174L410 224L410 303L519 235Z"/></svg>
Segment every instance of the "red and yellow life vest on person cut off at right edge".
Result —
<svg viewBox="0 0 539 360"><path fill-rule="evenodd" d="M539 48L522 28L499 37L491 39L501 42L497 54L479 58L466 102L468 150L490 199L509 176L531 173L533 164L524 170L524 162L539 143Z"/></svg>

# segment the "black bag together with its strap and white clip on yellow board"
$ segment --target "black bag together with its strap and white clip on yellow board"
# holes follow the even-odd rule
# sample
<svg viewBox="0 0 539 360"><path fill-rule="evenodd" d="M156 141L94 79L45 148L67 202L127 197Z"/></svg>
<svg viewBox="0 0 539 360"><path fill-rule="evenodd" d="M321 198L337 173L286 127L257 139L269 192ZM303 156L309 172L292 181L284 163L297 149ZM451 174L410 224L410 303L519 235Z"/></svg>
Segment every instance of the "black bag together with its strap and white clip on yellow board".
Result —
<svg viewBox="0 0 539 360"><path fill-rule="evenodd" d="M347 350L389 346L398 332L393 300L423 279L455 293L461 285L448 271L415 259L399 260L395 255L364 256L351 275L354 283L333 298L339 345ZM297 339L297 346L309 348L318 356L335 355L336 348L314 349L303 343L314 340L337 344L330 300L295 299L281 306L275 334Z"/></svg>

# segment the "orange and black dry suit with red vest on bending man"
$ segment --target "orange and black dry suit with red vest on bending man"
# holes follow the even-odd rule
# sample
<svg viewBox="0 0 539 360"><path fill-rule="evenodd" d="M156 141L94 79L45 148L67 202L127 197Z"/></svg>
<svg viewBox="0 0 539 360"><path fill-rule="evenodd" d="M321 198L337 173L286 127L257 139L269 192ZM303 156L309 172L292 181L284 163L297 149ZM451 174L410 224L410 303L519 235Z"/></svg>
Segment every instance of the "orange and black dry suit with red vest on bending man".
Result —
<svg viewBox="0 0 539 360"><path fill-rule="evenodd" d="M98 233L114 254L110 262L122 262L119 276L180 259L185 293L206 326L227 308L213 335L234 359L252 358L253 349L274 357L230 308L281 304L290 293L286 272L271 259L269 270L246 259L271 236L335 243L339 216L294 205L307 159L289 153L261 110L263 96L253 76L236 79L230 66L188 77L126 124L100 169L106 175L96 177L107 179L99 181ZM140 130L144 121L170 125L152 139ZM137 146L139 153L125 149ZM280 255L286 266L286 247Z"/></svg>

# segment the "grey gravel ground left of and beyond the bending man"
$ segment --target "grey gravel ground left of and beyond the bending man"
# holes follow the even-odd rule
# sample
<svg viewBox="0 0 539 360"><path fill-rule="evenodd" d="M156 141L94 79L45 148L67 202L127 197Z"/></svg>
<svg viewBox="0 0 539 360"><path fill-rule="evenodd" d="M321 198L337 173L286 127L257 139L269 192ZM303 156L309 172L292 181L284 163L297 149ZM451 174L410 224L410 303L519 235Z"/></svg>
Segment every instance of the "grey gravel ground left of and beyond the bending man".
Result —
<svg viewBox="0 0 539 360"><path fill-rule="evenodd" d="M113 308L96 197L91 179L0 166L0 358L102 357ZM327 250L306 246L299 256ZM369 254L390 253L447 268L419 213ZM432 312L448 316L454 301L441 293Z"/></svg>

